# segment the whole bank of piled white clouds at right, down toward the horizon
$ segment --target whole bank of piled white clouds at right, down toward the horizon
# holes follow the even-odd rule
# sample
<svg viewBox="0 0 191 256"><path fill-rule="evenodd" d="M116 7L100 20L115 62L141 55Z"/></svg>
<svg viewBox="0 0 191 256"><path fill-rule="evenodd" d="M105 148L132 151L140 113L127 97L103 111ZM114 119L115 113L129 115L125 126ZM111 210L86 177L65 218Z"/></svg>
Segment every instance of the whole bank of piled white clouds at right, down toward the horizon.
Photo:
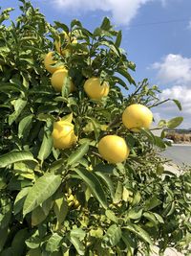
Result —
<svg viewBox="0 0 191 256"><path fill-rule="evenodd" d="M160 105L156 108L156 119L159 121L159 118L183 116L181 128L191 128L191 58L169 54L152 67L158 71L160 84L169 83L169 87L159 95L160 100L177 99L182 106L182 111L179 111L173 102Z"/></svg>

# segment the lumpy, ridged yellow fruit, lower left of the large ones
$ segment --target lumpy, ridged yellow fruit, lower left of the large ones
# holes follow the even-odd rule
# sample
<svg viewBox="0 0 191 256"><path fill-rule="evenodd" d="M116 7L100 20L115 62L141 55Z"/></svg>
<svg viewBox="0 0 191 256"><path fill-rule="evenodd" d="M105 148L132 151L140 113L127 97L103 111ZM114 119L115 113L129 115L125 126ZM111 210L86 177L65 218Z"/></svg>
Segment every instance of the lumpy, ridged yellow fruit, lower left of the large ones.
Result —
<svg viewBox="0 0 191 256"><path fill-rule="evenodd" d="M53 147L56 149L69 149L77 140L74 134L74 125L62 120L54 122L52 135Z"/></svg>

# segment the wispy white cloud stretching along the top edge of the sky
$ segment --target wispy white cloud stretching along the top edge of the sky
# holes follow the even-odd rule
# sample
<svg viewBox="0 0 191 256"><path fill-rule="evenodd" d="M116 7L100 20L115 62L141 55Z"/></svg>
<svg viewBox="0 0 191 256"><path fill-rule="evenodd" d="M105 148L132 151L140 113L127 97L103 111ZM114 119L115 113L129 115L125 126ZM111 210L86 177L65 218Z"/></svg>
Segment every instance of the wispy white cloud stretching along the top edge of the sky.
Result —
<svg viewBox="0 0 191 256"><path fill-rule="evenodd" d="M111 12L117 24L128 25L144 4L156 0L53 0L54 6L73 12ZM162 0L161 0L162 1Z"/></svg>

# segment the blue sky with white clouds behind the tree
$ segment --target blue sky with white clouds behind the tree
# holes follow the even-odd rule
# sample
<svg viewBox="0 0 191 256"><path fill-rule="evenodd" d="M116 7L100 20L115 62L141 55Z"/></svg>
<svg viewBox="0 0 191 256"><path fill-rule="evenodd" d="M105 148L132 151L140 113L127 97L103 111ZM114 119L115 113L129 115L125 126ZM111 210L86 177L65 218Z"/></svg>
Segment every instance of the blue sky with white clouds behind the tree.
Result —
<svg viewBox="0 0 191 256"><path fill-rule="evenodd" d="M136 81L158 84L161 100L177 99L153 109L156 121L183 116L181 128L191 128L191 0L32 0L47 20L70 24L74 18L93 31L104 16L122 31L122 48L136 63ZM2 9L18 0L0 0Z"/></svg>

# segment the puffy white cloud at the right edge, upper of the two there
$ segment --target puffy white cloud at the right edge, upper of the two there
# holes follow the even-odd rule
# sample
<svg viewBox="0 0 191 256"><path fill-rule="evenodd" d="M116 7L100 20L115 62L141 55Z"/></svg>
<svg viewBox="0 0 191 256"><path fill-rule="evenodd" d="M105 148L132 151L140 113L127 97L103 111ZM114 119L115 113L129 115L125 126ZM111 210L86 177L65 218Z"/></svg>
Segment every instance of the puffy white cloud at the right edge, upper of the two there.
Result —
<svg viewBox="0 0 191 256"><path fill-rule="evenodd" d="M191 58L169 54L161 62L154 63L152 67L158 70L159 81L191 82Z"/></svg>

